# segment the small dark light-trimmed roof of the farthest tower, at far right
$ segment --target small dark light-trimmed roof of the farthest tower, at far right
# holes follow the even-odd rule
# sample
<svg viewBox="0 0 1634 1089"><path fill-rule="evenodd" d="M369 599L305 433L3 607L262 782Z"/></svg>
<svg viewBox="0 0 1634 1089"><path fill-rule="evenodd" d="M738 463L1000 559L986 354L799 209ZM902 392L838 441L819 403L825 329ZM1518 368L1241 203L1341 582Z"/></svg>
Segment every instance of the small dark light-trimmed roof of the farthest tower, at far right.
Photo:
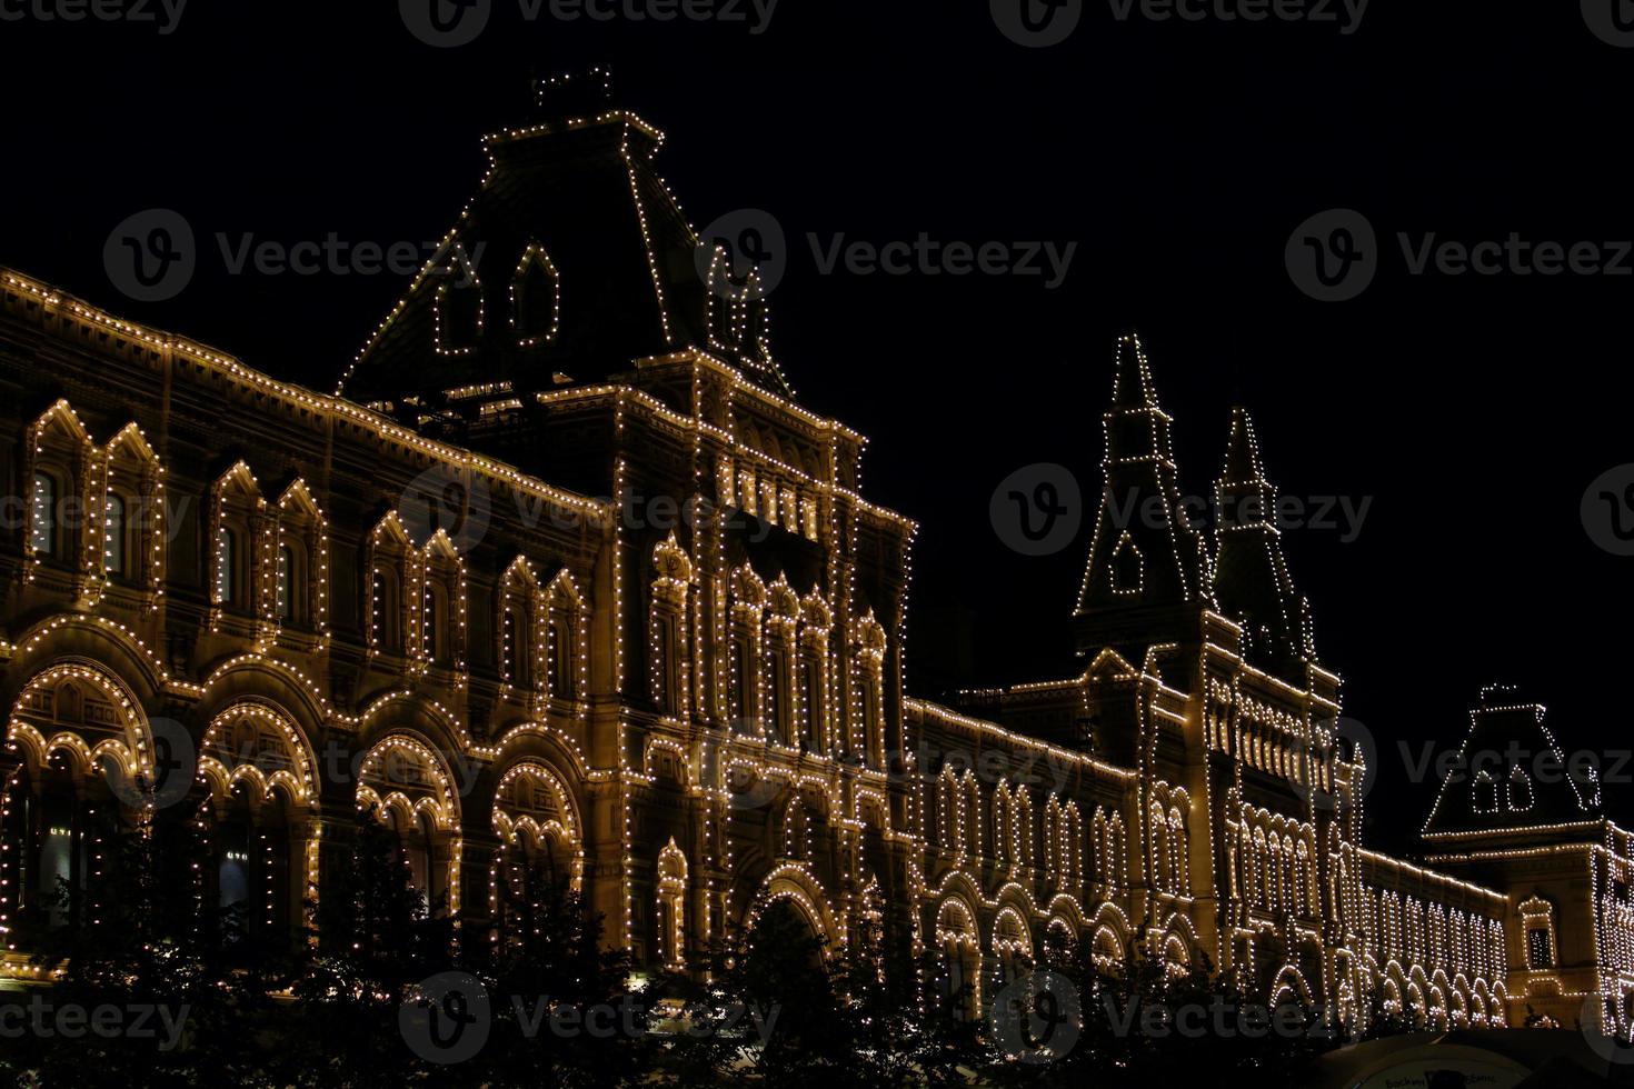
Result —
<svg viewBox="0 0 1634 1089"><path fill-rule="evenodd" d="M1513 686L1489 686L1469 713L1469 733L1441 782L1423 834L1536 836L1549 828L1598 821L1600 777L1572 766L1544 725L1542 704Z"/></svg>

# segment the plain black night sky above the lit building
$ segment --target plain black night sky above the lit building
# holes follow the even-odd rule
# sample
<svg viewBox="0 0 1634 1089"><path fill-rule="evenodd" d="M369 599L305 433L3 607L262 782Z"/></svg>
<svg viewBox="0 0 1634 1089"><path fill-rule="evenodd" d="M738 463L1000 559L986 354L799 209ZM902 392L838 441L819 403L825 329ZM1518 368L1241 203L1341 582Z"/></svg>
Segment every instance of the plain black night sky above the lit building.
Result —
<svg viewBox="0 0 1634 1089"><path fill-rule="evenodd" d="M1021 557L989 498L1036 462L1098 491L1113 341L1137 328L1190 491L1211 487L1245 403L1284 493L1371 498L1355 540L1291 532L1289 555L1346 712L1382 749L1384 833L1417 828L1430 800L1397 743L1459 738L1484 682L1525 684L1569 749L1629 746L1634 560L1592 542L1580 501L1634 462L1634 278L1413 276L1397 242L1634 237L1634 49L1600 41L1578 5L1377 0L1343 34L1118 20L1090 0L1064 44L1025 49L985 2L783 0L760 34L493 3L453 49L392 3L191 0L168 34L0 20L0 263L330 389L404 282L234 276L214 235L435 240L480 178L477 137L525 116L529 75L608 64L621 104L668 134L660 167L694 224L763 207L784 227L784 371L873 438L868 495L922 522L910 651L956 642L941 637L958 602L967 682L1065 669L1088 529ZM0 0L18 10L34 8ZM139 304L105 274L103 242L150 207L203 247L185 292ZM1284 266L1296 225L1332 207L1379 238L1377 276L1348 302L1306 297ZM920 232L1078 248L1046 289L825 276L807 242ZM909 682L943 679L918 663ZM1634 810L1634 785L1609 793Z"/></svg>

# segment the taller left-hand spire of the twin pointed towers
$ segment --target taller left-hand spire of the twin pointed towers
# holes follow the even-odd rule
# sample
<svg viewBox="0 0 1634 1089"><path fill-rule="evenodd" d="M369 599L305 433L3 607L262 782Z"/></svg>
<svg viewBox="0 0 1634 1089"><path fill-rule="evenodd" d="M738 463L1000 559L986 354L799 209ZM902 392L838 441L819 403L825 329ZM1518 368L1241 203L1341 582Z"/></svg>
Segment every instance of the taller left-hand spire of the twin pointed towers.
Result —
<svg viewBox="0 0 1634 1089"><path fill-rule="evenodd" d="M1181 509L1170 423L1139 336L1121 336L1113 403L1103 416L1101 509L1074 614L1082 653L1108 645L1106 632L1124 627L1114 616L1208 599L1208 555Z"/></svg>

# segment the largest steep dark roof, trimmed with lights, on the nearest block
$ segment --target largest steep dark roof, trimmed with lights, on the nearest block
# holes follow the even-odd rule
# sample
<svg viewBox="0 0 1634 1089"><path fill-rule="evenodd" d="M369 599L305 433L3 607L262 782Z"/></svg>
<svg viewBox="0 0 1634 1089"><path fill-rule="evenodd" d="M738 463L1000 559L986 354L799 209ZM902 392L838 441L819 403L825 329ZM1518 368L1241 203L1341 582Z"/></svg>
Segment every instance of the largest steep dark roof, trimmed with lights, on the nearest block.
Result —
<svg viewBox="0 0 1634 1089"><path fill-rule="evenodd" d="M534 118L484 139L477 194L338 392L364 403L538 392L698 348L789 395L753 271L699 260L654 170L662 142L611 108L605 72L539 82Z"/></svg>

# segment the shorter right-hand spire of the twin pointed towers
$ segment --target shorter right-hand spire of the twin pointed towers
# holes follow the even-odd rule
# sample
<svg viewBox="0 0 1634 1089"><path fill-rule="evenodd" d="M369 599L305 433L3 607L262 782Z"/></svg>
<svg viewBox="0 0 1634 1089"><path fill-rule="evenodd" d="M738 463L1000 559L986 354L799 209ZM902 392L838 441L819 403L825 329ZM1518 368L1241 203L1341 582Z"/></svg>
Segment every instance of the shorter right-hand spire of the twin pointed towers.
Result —
<svg viewBox="0 0 1634 1089"><path fill-rule="evenodd" d="M1226 467L1216 483L1214 601L1243 629L1250 663L1304 681L1315 656L1309 607L1294 589L1276 527L1276 490L1265 478L1248 410L1234 408Z"/></svg>

